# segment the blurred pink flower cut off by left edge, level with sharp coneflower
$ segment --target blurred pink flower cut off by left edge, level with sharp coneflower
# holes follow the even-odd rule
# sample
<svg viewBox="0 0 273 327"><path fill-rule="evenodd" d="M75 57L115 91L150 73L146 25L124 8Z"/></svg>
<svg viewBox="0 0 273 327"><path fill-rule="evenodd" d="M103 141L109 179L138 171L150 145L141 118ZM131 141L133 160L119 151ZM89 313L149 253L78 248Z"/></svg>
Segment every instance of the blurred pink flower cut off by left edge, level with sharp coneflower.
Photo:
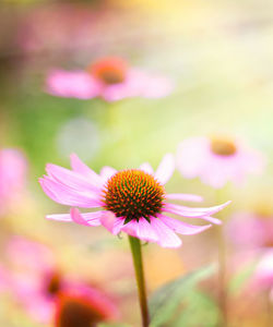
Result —
<svg viewBox="0 0 273 327"><path fill-rule="evenodd" d="M13 202L22 195L27 164L20 150L4 148L0 150L0 215L5 214Z"/></svg>

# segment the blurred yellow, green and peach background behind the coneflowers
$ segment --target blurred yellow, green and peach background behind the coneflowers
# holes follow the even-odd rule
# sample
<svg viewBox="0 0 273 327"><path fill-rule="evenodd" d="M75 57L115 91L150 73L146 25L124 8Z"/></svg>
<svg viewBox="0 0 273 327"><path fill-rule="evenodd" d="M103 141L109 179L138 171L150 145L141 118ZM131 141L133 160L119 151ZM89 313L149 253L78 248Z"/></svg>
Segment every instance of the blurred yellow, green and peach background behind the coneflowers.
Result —
<svg viewBox="0 0 273 327"><path fill-rule="evenodd" d="M23 198L0 221L2 257L11 235L41 242L66 274L117 299L120 322L140 326L126 235L119 240L103 228L46 221L45 214L66 208L45 196L37 179L47 162L69 167L70 153L95 171L144 161L156 167L182 140L224 132L247 141L269 162L262 177L228 186L223 201L233 199L233 205L225 214L261 206L272 214L273 2L2 0L0 21L0 145L22 150L28 162ZM50 69L84 69L105 56L171 78L174 92L162 99L111 104L45 93ZM177 171L167 191L200 194L205 205L218 201L212 187ZM149 292L215 262L216 244L212 228L185 237L179 250L145 246ZM232 261L237 250L230 245L228 252ZM203 286L210 301L194 293L185 304L186 325L175 319L166 326L216 326L213 286L213 279ZM232 296L230 326L266 326L262 294L246 299L239 289ZM3 299L1 326L43 326L15 301Z"/></svg>

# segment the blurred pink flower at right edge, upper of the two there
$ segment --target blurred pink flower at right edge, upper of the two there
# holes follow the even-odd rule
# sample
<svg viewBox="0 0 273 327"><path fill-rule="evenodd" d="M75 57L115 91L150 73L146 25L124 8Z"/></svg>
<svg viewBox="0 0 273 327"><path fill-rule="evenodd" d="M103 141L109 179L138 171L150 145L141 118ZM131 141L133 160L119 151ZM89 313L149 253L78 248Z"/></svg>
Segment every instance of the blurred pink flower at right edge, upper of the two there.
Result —
<svg viewBox="0 0 273 327"><path fill-rule="evenodd" d="M226 232L228 240L247 250L273 246L273 216L237 213L226 225Z"/></svg>

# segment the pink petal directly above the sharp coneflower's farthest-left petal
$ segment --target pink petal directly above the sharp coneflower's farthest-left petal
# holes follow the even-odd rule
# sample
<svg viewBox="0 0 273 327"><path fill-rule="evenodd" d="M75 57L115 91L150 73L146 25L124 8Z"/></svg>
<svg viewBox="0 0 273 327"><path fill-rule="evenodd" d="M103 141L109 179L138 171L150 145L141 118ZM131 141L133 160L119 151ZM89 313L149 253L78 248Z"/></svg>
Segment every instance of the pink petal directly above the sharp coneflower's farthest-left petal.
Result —
<svg viewBox="0 0 273 327"><path fill-rule="evenodd" d="M52 164L48 164L46 166L46 171L49 177L52 177L56 181L62 183L63 185L68 185L69 187L78 191L81 190L83 192L92 192L93 194L94 192L95 194L99 192L97 186L92 184L86 178L76 171L72 171Z"/></svg>

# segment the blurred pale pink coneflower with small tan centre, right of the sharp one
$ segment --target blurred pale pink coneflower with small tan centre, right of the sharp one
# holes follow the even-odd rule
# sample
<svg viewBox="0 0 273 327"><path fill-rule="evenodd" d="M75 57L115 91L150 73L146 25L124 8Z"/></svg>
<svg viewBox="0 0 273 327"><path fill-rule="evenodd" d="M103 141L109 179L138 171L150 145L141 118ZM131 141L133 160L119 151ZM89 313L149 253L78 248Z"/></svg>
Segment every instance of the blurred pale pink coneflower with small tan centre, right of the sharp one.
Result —
<svg viewBox="0 0 273 327"><path fill-rule="evenodd" d="M178 146L177 167L186 178L200 177L215 189L240 183L248 173L261 172L264 158L241 143L227 138L192 137Z"/></svg>

